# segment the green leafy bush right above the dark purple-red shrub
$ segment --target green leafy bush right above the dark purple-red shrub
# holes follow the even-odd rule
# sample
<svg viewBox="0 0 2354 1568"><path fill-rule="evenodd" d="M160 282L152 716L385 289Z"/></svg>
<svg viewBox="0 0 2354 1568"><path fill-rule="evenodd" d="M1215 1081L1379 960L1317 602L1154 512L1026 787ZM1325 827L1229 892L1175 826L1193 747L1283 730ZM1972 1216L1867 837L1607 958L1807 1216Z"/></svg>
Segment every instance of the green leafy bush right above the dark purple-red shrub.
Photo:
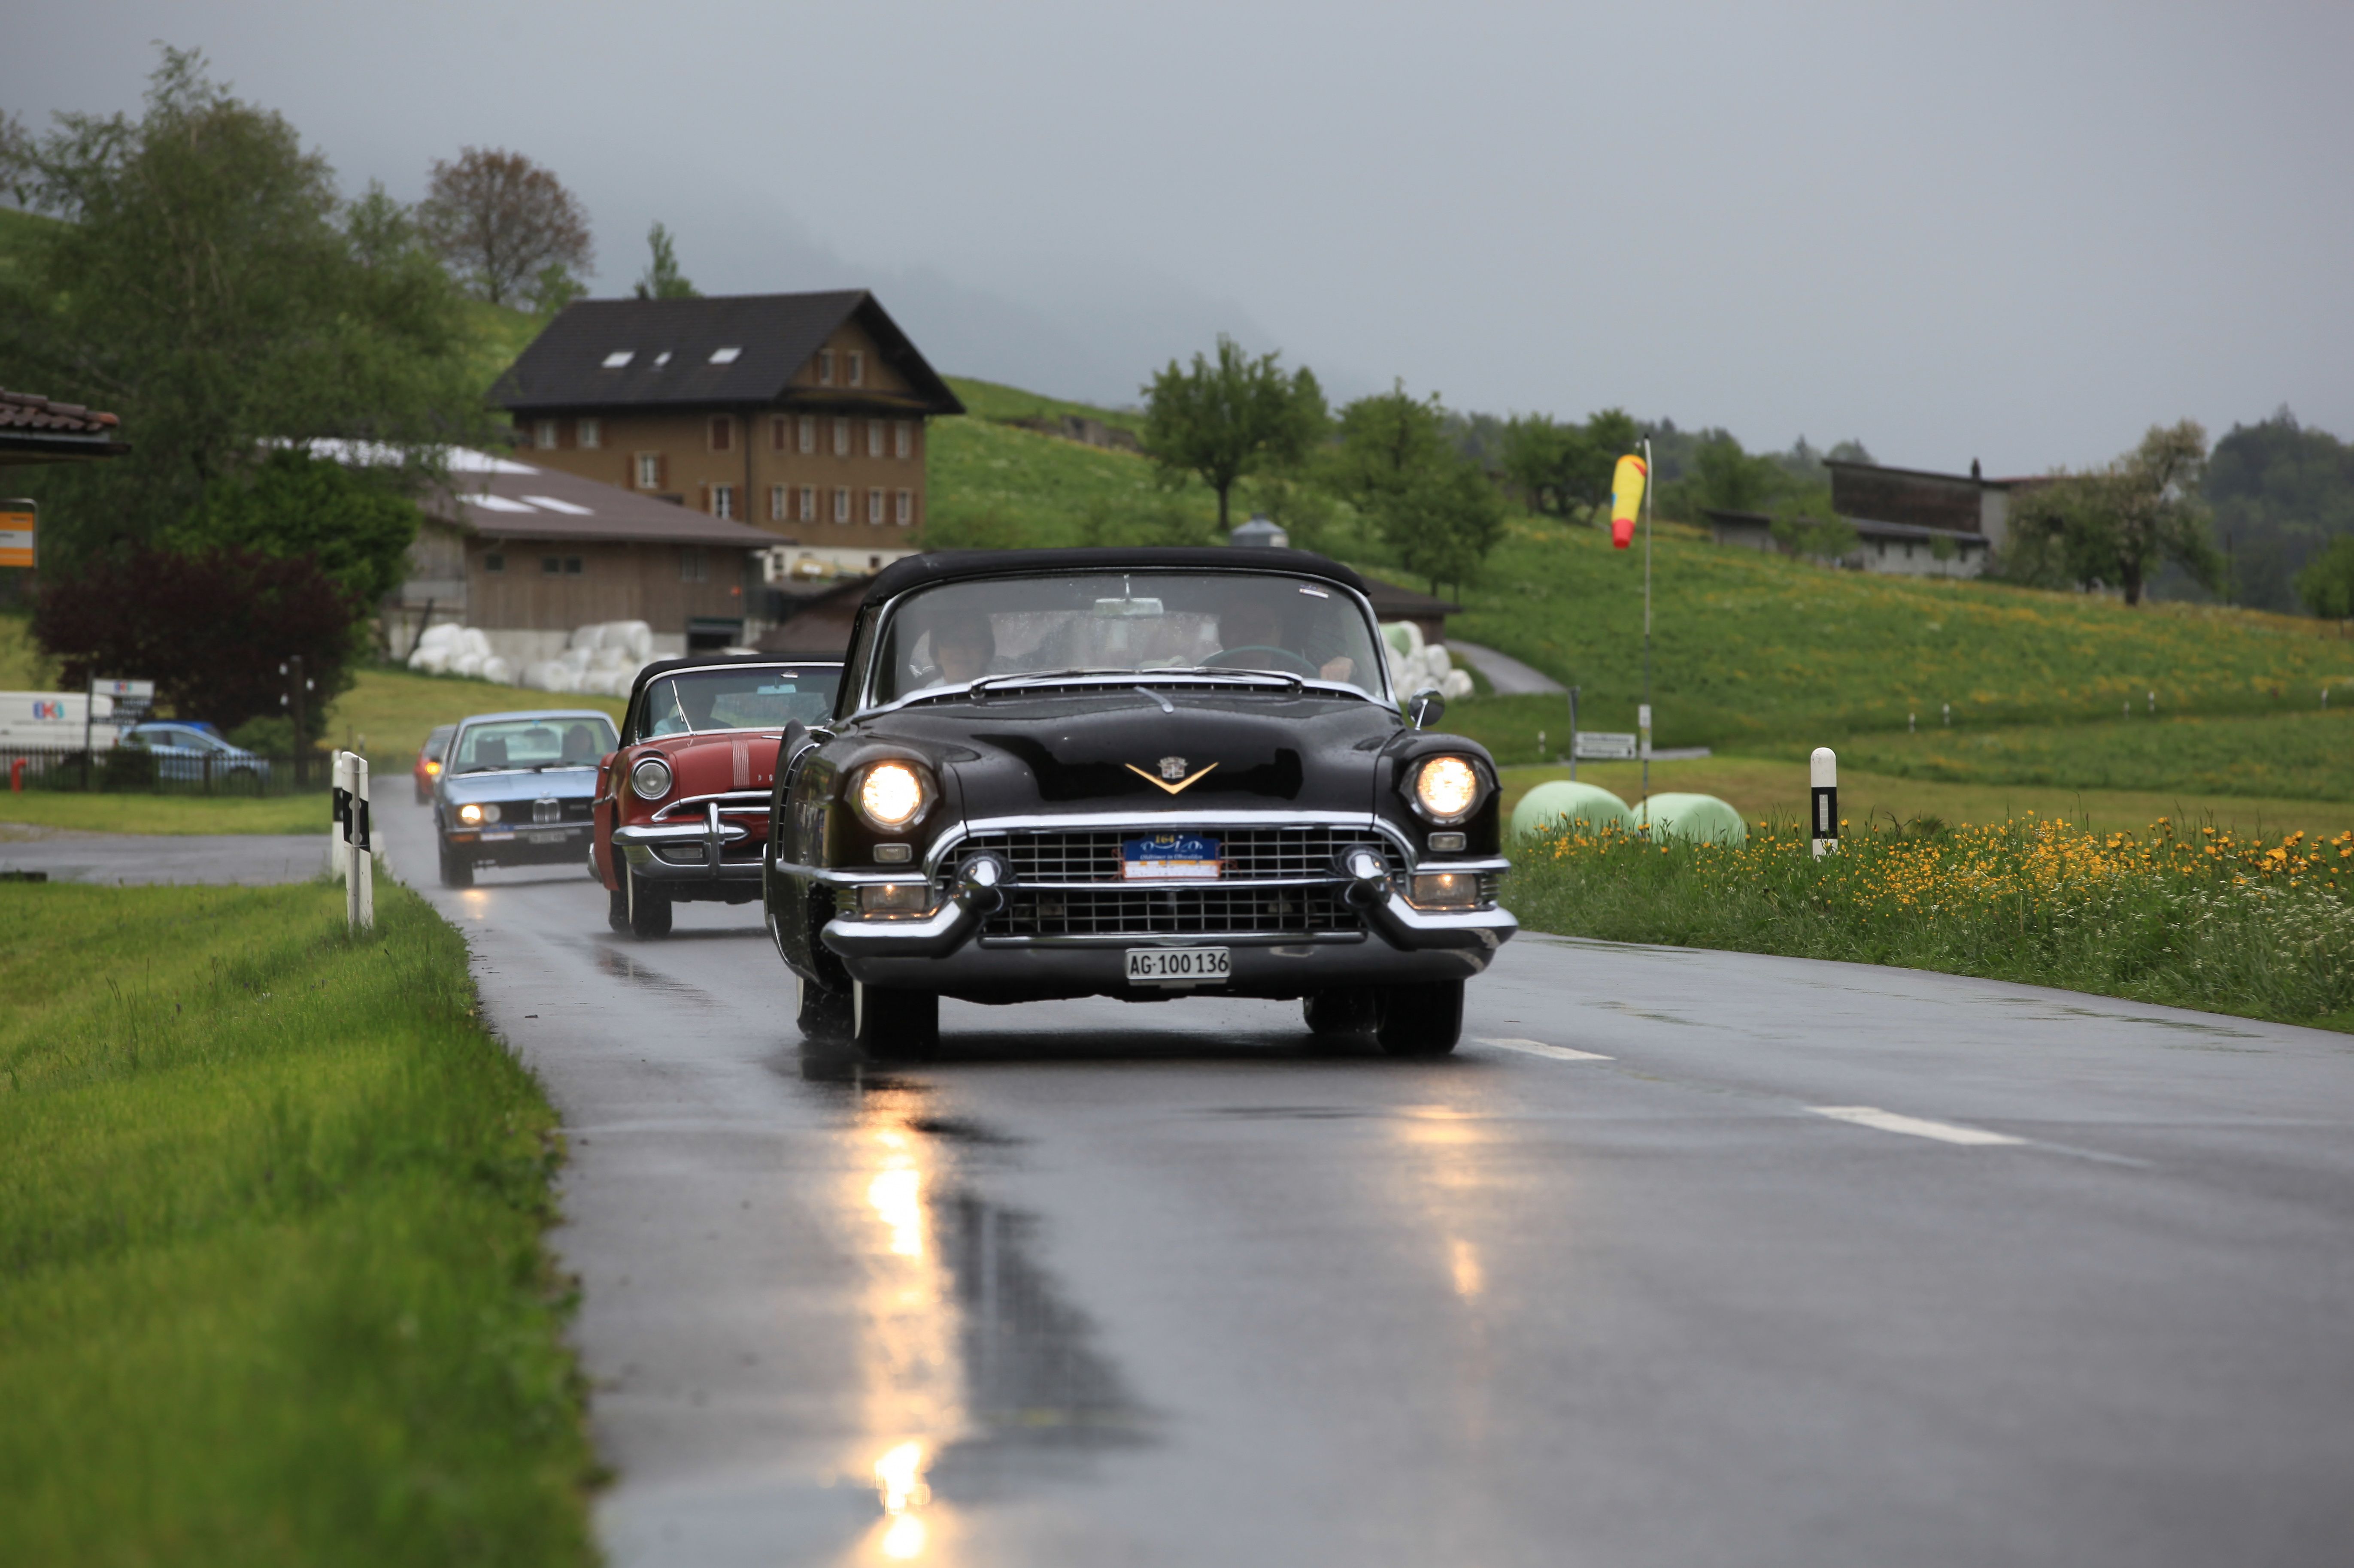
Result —
<svg viewBox="0 0 2354 1568"><path fill-rule="evenodd" d="M214 480L160 544L191 556L242 549L308 558L355 603L374 605L407 574L417 504L384 471L280 450L250 476Z"/></svg>

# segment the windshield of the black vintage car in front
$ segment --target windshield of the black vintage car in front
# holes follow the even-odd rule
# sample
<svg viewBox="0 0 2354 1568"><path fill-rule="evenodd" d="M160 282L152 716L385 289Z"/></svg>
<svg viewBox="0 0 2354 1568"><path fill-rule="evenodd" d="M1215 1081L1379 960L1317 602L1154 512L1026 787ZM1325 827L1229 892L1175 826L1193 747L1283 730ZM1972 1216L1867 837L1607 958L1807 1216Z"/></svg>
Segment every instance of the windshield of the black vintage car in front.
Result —
<svg viewBox="0 0 2354 1568"><path fill-rule="evenodd" d="M1342 589L1257 572L1073 572L909 593L883 629L873 699L982 676L1168 669L1384 690L1372 624Z"/></svg>

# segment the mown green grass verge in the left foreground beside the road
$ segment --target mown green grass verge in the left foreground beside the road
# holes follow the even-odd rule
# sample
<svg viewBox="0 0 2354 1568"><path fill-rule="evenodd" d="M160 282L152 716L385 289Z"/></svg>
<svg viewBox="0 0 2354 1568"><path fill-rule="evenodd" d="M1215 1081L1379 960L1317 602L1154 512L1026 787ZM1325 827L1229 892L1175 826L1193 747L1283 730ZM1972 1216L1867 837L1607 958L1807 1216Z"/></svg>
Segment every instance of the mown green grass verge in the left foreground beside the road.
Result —
<svg viewBox="0 0 2354 1568"><path fill-rule="evenodd" d="M0 888L0 1561L593 1559L556 1116L377 909Z"/></svg>

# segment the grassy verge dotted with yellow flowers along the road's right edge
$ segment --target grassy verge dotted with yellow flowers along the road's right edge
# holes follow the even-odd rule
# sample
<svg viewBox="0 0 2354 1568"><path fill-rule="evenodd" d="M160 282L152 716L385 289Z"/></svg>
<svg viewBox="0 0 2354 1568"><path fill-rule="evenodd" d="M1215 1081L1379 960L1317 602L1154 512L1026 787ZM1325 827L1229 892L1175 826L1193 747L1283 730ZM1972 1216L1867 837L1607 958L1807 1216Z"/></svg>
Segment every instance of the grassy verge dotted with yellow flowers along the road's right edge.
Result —
<svg viewBox="0 0 2354 1568"><path fill-rule="evenodd" d="M2013 819L1749 843L1561 833L1521 848L1530 930L1949 975L2354 1029L2354 833L2093 833Z"/></svg>

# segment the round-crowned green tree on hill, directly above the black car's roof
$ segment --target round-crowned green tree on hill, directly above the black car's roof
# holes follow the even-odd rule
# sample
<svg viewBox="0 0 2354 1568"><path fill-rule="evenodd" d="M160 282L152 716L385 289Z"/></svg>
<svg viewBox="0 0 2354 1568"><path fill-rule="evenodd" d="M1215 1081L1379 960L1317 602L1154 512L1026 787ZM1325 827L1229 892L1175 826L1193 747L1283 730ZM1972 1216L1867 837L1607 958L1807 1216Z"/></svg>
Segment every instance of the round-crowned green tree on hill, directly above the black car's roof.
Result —
<svg viewBox="0 0 2354 1568"><path fill-rule="evenodd" d="M1323 388L1299 367L1285 374L1281 356L1250 358L1226 334L1217 360L1196 353L1144 386L1144 454L1175 478L1198 473L1217 492L1217 525L1229 525L1229 497L1245 473L1283 469L1306 457L1323 436Z"/></svg>

